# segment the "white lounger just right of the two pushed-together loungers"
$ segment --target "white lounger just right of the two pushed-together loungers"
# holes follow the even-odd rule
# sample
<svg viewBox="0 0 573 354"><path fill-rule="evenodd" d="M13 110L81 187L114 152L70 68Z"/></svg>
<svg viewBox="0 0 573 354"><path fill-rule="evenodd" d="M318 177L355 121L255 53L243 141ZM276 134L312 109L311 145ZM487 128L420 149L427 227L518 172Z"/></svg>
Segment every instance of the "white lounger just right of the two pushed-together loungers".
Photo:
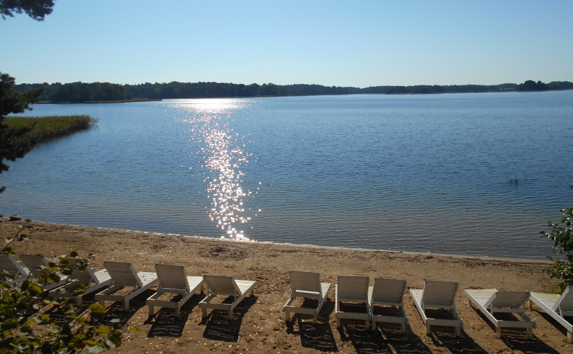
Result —
<svg viewBox="0 0 573 354"><path fill-rule="evenodd" d="M410 295L414 301L424 325L426 325L426 335L430 335L431 326L448 326L454 327L456 335L460 335L463 321L456 312L456 293L458 292L458 283L440 282L426 280L424 289L410 289ZM434 319L427 317L428 309L448 310L454 319Z"/></svg>

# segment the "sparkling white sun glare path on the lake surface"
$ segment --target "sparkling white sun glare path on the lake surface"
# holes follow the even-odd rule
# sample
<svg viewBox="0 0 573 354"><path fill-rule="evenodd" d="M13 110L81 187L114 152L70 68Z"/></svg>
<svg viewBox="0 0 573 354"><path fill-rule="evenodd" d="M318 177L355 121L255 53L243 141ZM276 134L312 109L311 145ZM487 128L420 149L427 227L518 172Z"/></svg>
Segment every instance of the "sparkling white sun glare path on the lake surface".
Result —
<svg viewBox="0 0 573 354"><path fill-rule="evenodd" d="M232 99L204 99L181 102L178 108L189 112L183 121L191 126L186 133L206 183L210 220L223 231L222 238L249 240L244 229L253 212L244 204L254 194L242 187L241 167L249 163L251 154L244 151L245 137L229 127L231 112L244 108L244 104Z"/></svg>

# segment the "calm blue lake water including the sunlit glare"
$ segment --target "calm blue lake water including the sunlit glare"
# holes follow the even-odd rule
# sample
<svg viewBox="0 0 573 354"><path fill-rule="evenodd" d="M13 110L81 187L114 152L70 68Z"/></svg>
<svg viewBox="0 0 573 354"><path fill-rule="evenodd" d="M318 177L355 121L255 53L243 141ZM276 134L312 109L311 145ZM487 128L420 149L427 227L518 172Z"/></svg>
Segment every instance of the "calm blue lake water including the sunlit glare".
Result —
<svg viewBox="0 0 573 354"><path fill-rule="evenodd" d="M0 214L320 246L545 258L573 91L36 105L97 128L0 175Z"/></svg>

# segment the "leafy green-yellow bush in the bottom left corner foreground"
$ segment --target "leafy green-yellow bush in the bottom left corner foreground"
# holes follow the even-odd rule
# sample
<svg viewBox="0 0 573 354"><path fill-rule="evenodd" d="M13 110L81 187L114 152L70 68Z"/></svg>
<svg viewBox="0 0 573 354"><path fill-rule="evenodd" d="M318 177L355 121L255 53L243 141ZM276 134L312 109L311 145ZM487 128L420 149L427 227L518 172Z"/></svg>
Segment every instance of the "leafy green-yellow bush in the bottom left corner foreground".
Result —
<svg viewBox="0 0 573 354"><path fill-rule="evenodd" d="M15 237L1 252L13 254L11 244L23 241L31 228L17 228ZM62 257L52 258L47 267L35 277L13 284L0 282L0 354L3 353L95 353L121 345L122 333L117 328L98 323L106 311L93 303L83 311L73 298L51 300L44 287L58 283L74 268L85 269L93 255L78 258L74 250ZM71 260L74 259L74 262ZM72 284L66 291L74 296L83 294L85 286ZM52 315L46 308L59 310Z"/></svg>

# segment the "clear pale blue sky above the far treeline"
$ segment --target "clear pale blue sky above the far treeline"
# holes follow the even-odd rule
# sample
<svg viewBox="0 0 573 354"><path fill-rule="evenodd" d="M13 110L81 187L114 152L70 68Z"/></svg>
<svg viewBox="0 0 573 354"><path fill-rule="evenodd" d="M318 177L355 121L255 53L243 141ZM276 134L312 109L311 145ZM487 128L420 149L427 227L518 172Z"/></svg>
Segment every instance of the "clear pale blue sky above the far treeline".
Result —
<svg viewBox="0 0 573 354"><path fill-rule="evenodd" d="M56 0L0 19L17 83L573 81L572 0Z"/></svg>

